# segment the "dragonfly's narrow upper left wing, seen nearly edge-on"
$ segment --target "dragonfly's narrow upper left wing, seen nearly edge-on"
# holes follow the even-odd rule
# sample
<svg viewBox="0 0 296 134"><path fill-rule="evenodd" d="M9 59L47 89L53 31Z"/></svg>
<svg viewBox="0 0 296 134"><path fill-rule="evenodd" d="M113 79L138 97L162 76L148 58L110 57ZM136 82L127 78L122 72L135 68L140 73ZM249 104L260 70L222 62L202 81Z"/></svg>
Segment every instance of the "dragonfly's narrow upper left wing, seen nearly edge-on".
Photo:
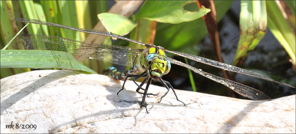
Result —
<svg viewBox="0 0 296 134"><path fill-rule="evenodd" d="M74 27L69 27L69 26L65 26L65 25L50 23L50 22L46 22L46 21L39 21L39 20L26 19L26 18L17 18L17 19L14 19L14 20L19 21L19 22L33 23L33 24L40 24L40 25L48 25L48 26L60 27L60 28L64 28L64 29L75 30L75 31L84 32L84 33L90 33L90 34L114 37L114 38L118 38L118 39L124 39L124 40L130 41L130 42L133 42L133 43L141 44L143 46L148 46L149 45L149 44L145 44L145 43L133 40L133 39L129 39L127 37L123 37L121 35L113 34L112 32L103 31L103 30L87 29L87 28L74 28Z"/></svg>

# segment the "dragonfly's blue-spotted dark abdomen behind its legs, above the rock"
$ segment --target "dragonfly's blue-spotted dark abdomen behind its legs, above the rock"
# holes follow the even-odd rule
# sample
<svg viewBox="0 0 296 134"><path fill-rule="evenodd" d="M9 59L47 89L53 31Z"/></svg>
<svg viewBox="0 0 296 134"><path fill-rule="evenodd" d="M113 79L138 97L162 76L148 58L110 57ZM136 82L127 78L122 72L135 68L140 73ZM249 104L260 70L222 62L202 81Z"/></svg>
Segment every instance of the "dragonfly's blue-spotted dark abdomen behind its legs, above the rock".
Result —
<svg viewBox="0 0 296 134"><path fill-rule="evenodd" d="M124 72L119 72L117 71L116 67L108 67L103 70L103 74L105 75L111 75L112 78L117 79L117 80L124 80L128 75L130 74L137 74L139 70L135 65L134 67L127 69Z"/></svg>

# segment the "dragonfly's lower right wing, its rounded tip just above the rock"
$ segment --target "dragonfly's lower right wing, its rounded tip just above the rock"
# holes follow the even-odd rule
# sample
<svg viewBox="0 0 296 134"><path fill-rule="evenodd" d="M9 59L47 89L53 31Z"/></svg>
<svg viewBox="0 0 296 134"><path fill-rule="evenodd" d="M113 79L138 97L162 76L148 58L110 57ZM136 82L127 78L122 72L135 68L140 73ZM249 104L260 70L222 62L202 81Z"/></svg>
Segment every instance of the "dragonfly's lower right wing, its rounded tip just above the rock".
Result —
<svg viewBox="0 0 296 134"><path fill-rule="evenodd" d="M168 58L168 59L173 64L189 68L193 72L196 72L196 73L198 73L198 74L200 74L202 76L205 76L205 77L207 77L207 78L209 78L209 79L211 79L213 81L221 83L221 84L229 87L230 89L234 90L236 93L238 93L240 95L243 95L245 97L248 97L250 99L260 100L260 101L270 101L271 100L271 98L268 95L264 94L263 92L261 92L259 90L251 88L249 86L246 86L246 85L237 83L235 81L227 80L227 79L224 79L222 77L215 76L215 75L203 72L200 69L197 69L195 67L192 67L190 65L187 65L187 64L185 64L183 62L177 61L177 60L172 59L172 58Z"/></svg>

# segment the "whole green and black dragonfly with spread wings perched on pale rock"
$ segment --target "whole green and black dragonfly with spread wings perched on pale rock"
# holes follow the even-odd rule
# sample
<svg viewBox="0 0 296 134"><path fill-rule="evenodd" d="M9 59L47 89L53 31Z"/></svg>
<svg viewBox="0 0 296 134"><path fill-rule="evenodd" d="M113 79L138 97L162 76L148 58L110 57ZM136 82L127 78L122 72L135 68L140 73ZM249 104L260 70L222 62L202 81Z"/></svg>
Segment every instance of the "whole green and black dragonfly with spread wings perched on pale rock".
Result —
<svg viewBox="0 0 296 134"><path fill-rule="evenodd" d="M184 104L184 106L186 105L184 102L179 100L172 85L168 81L165 81L161 78L163 75L169 73L171 68L171 63L189 68L193 72L198 73L218 83L221 83L229 87L230 89L234 90L236 93L242 96L245 96L247 98L250 98L253 100L260 100L260 101L271 100L271 98L268 95L261 92L260 90L256 90L252 87L240 84L235 81L224 79L222 77L215 76L207 72L203 72L201 69L197 69L195 67L192 67L188 64L185 64L173 58L166 57L165 52L173 53L197 62L201 62L213 67L221 68L227 71L232 71L236 73L245 74L248 76L257 77L267 81L273 81L275 83L279 83L282 85L295 88L292 85L275 81L257 72L252 72L250 70L228 65L228 64L211 60L208 58L203 58L203 57L199 57L199 56L195 56L187 53L180 53L180 52L168 50L161 46L155 46L154 44L142 43L142 42L129 39L127 37L117 35L108 31L85 29L85 28L74 28L74 27L69 27L65 25L60 25L60 24L55 24L55 23L50 23L50 22L40 21L40 20L34 20L34 19L27 19L27 18L17 18L14 20L19 22L24 22L24 23L48 25L48 26L69 29L69 30L75 30L75 31L84 32L84 33L109 36L109 37L123 39L123 40L127 40L130 42L145 46L146 47L145 49L135 49L135 48L124 47L124 46L90 44L87 42L81 42L81 41L76 41L72 39L65 39L61 37L53 37L53 36L46 36L46 35L18 35L11 43L12 47L18 48L18 49L63 51L63 52L67 52L69 54L80 56L80 57L86 57L90 59L96 59L96 60L111 62L117 65L131 67L130 69L127 69L124 72L117 71L115 67L108 67L103 71L103 73L107 75L111 75L115 79L124 80L122 89L120 89L117 92L117 95L119 95L119 92L124 90L124 85L128 80L128 78L133 77L132 81L138 86L138 88L136 89L136 92L143 95L142 101L141 101L141 108L145 107L147 113L148 113L147 104L145 102L146 96L149 97L148 95L159 95L159 93L147 92L152 80L160 82L167 89L165 94L160 97L160 100L158 101L158 103L160 103L162 98L164 98L168 94L169 90L172 90L175 98L179 102ZM136 83L136 80L141 77L144 77L144 80L139 85ZM145 83L147 83L146 87L143 88L142 86Z"/></svg>

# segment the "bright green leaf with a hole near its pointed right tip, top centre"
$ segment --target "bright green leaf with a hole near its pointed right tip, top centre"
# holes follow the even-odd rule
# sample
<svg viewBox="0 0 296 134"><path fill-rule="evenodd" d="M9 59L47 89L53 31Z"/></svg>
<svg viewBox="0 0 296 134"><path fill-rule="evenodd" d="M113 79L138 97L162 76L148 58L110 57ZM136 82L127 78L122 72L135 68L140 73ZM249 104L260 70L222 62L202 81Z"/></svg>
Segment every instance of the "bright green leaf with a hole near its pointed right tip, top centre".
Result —
<svg viewBox="0 0 296 134"><path fill-rule="evenodd" d="M198 12L189 12L183 7L195 1L146 1L141 7L136 20L148 19L162 23L178 24L193 21L210 12L202 7Z"/></svg>

